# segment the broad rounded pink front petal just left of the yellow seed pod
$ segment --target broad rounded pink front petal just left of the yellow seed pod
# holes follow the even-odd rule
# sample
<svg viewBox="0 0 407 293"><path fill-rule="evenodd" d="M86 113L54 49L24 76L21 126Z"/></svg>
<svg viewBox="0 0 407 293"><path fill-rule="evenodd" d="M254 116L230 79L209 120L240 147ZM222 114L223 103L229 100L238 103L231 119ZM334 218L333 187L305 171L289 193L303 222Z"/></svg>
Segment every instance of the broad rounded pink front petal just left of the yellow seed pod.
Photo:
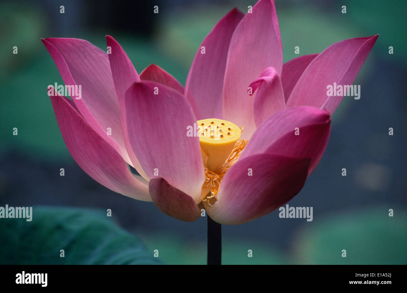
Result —
<svg viewBox="0 0 407 293"><path fill-rule="evenodd" d="M126 91L125 99L131 146L147 176L164 178L199 203L204 166L199 137L187 136L197 120L186 98L142 81Z"/></svg>

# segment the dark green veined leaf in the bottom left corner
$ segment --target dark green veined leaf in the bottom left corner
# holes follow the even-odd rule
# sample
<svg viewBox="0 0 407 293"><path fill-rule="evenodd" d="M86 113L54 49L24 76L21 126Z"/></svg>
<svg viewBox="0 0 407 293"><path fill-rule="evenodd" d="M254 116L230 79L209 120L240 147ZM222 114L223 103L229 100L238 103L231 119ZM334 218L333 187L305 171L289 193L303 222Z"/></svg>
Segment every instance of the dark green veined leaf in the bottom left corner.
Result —
<svg viewBox="0 0 407 293"><path fill-rule="evenodd" d="M32 221L0 219L0 235L0 264L161 263L103 211L34 206Z"/></svg>

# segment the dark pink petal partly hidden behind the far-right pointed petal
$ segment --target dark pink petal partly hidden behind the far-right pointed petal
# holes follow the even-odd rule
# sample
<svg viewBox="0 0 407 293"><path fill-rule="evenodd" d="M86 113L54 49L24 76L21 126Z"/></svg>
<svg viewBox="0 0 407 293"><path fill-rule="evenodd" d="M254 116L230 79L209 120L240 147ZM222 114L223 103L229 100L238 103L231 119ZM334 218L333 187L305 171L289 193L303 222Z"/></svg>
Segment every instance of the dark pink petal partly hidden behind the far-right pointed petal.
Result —
<svg viewBox="0 0 407 293"><path fill-rule="evenodd" d="M299 56L282 65L281 82L286 102L301 74L316 56L318 54Z"/></svg>

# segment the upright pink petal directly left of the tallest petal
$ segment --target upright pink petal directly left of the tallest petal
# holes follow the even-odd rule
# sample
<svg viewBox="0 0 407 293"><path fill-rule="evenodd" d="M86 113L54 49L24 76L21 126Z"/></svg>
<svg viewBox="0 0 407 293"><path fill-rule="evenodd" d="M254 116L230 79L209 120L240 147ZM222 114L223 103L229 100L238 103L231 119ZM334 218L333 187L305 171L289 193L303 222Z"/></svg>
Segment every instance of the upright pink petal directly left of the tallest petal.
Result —
<svg viewBox="0 0 407 293"><path fill-rule="evenodd" d="M234 8L206 36L189 70L185 96L198 120L222 118L222 90L226 59L232 34L243 18ZM202 46L205 54L201 54Z"/></svg>

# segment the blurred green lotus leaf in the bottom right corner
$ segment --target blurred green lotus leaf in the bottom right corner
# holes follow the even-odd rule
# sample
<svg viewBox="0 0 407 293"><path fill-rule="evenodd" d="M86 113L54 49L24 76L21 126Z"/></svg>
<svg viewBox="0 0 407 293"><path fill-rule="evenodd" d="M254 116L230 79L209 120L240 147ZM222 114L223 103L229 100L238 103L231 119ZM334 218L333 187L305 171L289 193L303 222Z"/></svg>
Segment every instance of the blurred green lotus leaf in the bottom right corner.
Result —
<svg viewBox="0 0 407 293"><path fill-rule="evenodd" d="M393 217L389 217L392 208ZM396 265L407 261L407 213L398 205L355 209L321 219L295 243L296 263ZM346 250L346 257L342 257Z"/></svg>

